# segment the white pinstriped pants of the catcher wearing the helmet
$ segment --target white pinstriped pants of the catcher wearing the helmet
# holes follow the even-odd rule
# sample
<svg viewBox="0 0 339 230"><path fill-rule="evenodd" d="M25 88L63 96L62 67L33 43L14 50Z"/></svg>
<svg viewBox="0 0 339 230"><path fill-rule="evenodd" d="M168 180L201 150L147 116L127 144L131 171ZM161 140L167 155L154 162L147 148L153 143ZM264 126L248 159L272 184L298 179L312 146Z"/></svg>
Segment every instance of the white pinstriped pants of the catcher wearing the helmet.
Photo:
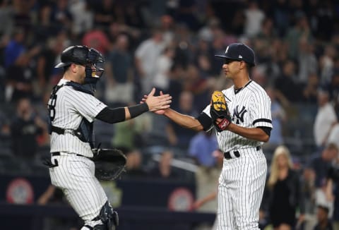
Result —
<svg viewBox="0 0 339 230"><path fill-rule="evenodd" d="M57 159L59 166L49 169L52 184L63 190L66 199L85 224L100 224L100 220L93 222L92 219L100 213L107 195L94 176L94 162L73 154L52 157L52 162L54 159Z"/></svg>

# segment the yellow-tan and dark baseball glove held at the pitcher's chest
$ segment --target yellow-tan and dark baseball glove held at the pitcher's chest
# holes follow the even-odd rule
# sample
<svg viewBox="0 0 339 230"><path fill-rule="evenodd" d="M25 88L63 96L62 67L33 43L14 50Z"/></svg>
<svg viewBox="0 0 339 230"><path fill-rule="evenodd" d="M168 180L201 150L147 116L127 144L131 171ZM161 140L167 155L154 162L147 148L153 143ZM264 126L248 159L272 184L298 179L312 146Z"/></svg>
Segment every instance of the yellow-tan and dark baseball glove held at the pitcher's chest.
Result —
<svg viewBox="0 0 339 230"><path fill-rule="evenodd" d="M221 91L216 90L212 94L210 99L210 116L218 132L225 131L227 126L232 122L225 95ZM221 119L221 121L217 122L217 119Z"/></svg>

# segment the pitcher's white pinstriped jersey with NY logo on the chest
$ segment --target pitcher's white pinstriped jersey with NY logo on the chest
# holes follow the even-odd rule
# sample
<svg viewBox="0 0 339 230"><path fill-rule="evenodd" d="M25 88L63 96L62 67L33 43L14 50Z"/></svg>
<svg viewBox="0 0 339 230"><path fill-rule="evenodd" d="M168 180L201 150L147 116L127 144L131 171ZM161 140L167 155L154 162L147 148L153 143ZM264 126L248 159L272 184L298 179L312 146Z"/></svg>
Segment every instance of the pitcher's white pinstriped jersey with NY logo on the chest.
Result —
<svg viewBox="0 0 339 230"><path fill-rule="evenodd" d="M259 126L273 128L270 113L270 97L268 97L263 87L258 85L258 83L250 80L238 92L234 92L234 85L232 85L232 87L222 90L222 93L225 95L232 123L245 128ZM210 116L210 105L203 112ZM216 133L218 145L222 152L263 145L262 142L244 138L231 131Z"/></svg>

